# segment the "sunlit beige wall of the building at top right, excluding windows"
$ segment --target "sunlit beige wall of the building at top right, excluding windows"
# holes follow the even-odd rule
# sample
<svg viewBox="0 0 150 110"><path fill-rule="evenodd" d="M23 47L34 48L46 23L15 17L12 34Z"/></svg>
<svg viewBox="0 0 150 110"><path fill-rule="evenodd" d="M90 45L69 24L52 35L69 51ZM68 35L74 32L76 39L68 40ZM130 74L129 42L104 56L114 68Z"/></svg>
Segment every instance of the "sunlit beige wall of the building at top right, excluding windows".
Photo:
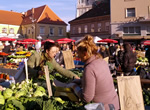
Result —
<svg viewBox="0 0 150 110"><path fill-rule="evenodd" d="M119 5L116 5L119 4ZM141 35L147 36L147 26L150 25L150 21L147 23L139 22L139 17L150 17L148 7L150 6L150 0L115 0L111 1L111 35L115 37L119 35L123 36L123 27L141 27ZM126 17L126 9L135 8L135 17Z"/></svg>

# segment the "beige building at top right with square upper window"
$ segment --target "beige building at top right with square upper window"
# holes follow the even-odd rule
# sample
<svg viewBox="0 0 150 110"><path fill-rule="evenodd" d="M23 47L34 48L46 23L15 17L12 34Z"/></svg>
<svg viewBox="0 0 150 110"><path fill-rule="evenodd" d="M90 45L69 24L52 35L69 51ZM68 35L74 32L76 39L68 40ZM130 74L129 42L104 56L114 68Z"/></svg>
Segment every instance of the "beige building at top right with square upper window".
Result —
<svg viewBox="0 0 150 110"><path fill-rule="evenodd" d="M111 35L114 39L137 40L137 43L150 39L150 0L111 2Z"/></svg>

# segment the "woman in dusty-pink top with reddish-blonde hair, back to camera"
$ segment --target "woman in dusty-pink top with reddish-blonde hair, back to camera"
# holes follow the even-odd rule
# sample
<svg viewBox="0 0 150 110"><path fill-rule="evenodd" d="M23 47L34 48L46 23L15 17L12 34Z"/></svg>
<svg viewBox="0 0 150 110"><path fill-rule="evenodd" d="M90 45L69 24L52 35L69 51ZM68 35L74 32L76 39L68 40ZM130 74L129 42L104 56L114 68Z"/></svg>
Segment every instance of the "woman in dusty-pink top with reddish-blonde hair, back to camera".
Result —
<svg viewBox="0 0 150 110"><path fill-rule="evenodd" d="M67 87L73 88L76 95L85 102L103 103L105 110L108 104L113 104L119 110L118 95L115 91L113 79L108 64L97 53L97 46L93 37L86 35L77 45L78 56L85 62L82 89L78 86L80 80L70 83Z"/></svg>

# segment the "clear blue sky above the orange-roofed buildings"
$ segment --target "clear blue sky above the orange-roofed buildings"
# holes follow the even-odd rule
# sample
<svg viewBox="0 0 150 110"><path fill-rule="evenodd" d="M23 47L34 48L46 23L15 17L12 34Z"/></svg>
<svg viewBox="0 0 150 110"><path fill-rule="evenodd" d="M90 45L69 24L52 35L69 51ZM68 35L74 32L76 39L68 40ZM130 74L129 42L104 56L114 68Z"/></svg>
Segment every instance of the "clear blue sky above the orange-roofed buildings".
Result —
<svg viewBox="0 0 150 110"><path fill-rule="evenodd" d="M31 8L48 5L57 16L68 24L75 18L77 0L0 0L0 10L26 12ZM69 26L67 26L69 30Z"/></svg>

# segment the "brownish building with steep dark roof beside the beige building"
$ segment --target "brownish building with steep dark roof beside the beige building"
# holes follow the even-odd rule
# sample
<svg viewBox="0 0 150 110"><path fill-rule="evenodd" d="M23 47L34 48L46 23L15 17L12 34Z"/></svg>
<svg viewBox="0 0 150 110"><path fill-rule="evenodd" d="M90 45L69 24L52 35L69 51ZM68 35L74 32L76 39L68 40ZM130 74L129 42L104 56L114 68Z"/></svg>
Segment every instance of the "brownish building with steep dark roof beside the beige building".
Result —
<svg viewBox="0 0 150 110"><path fill-rule="evenodd" d="M100 3L80 17L69 22L70 37L78 40L86 34L100 38L110 37L110 4Z"/></svg>

